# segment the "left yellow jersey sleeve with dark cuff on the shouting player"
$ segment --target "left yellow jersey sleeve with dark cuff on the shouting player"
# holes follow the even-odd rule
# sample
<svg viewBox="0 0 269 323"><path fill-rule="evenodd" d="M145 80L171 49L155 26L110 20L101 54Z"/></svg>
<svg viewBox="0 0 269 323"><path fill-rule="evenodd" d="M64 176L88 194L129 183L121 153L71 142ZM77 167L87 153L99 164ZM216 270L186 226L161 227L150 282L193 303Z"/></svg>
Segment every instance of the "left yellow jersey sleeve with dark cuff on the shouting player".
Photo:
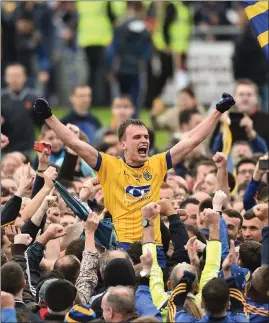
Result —
<svg viewBox="0 0 269 323"><path fill-rule="evenodd" d="M97 172L97 176L102 183L105 182L109 174L113 174L113 170L116 170L119 167L119 159L98 152L97 163L94 170Z"/></svg>

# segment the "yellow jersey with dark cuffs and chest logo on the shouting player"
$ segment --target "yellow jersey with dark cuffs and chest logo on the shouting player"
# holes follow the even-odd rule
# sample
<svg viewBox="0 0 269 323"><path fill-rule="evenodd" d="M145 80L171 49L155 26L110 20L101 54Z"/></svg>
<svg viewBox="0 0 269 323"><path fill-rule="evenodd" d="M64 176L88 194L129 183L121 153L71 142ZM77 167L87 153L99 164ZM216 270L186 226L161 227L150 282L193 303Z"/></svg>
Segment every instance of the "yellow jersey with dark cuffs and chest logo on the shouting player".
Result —
<svg viewBox="0 0 269 323"><path fill-rule="evenodd" d="M141 209L160 199L164 177L171 167L169 151L150 157L140 167L127 165L124 158L99 153L95 170L104 192L104 204L112 216L119 242L141 241ZM154 229L156 244L162 245L159 216Z"/></svg>

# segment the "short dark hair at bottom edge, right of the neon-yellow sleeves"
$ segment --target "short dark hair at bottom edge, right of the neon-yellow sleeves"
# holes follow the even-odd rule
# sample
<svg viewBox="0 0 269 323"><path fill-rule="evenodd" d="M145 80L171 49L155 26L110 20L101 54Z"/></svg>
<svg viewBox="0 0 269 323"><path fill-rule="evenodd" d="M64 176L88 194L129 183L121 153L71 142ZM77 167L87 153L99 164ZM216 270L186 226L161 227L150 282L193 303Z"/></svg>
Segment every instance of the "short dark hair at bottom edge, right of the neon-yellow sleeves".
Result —
<svg viewBox="0 0 269 323"><path fill-rule="evenodd" d="M216 315L225 310L229 302L229 286L222 278L213 278L202 290L202 298L207 312Z"/></svg>

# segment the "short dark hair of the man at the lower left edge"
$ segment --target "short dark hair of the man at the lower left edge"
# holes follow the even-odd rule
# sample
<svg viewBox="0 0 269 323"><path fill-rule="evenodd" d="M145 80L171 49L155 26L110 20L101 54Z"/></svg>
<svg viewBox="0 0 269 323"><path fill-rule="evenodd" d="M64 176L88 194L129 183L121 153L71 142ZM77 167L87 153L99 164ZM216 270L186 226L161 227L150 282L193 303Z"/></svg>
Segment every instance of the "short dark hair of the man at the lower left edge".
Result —
<svg viewBox="0 0 269 323"><path fill-rule="evenodd" d="M9 261L1 267L1 290L15 296L24 288L24 274L20 265Z"/></svg>

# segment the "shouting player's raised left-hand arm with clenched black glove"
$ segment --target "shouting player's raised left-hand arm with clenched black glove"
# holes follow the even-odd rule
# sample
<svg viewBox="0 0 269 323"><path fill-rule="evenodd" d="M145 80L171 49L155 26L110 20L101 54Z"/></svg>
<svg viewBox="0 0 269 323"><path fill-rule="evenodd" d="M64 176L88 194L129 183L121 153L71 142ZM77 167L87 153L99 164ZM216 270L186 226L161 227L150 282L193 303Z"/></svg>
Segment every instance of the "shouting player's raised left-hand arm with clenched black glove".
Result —
<svg viewBox="0 0 269 323"><path fill-rule="evenodd" d="M74 150L91 168L96 168L99 156L97 150L81 141L73 131L63 125L55 115L52 115L49 103L45 98L37 98L33 110L40 118L46 121L48 126L67 147Z"/></svg>

